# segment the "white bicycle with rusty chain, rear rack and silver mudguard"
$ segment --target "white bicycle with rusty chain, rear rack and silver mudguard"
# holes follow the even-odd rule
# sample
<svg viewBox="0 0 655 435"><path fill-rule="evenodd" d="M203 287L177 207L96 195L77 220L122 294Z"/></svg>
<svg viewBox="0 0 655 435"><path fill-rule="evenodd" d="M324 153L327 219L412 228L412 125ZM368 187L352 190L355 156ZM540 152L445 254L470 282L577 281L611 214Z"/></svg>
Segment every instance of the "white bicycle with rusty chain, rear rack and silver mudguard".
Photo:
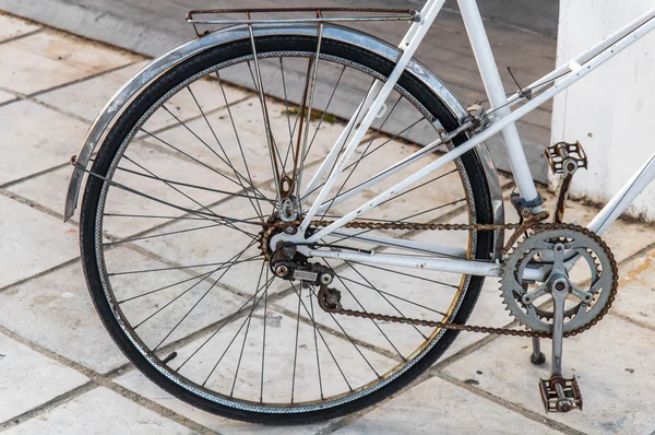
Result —
<svg viewBox="0 0 655 435"><path fill-rule="evenodd" d="M609 309L618 270L600 235L655 178L655 155L584 228L563 222L584 151L548 148L564 181L547 223L514 122L652 31L655 9L508 97L476 2L458 0L486 108L414 59L443 3L191 11L199 37L107 104L72 160L64 215L86 177L88 289L151 380L230 419L308 423L397 392L468 330L532 338L535 364L552 339L546 411L582 409L562 340ZM394 47L340 25L358 21L412 25ZM243 80L254 91L229 84ZM484 144L497 133L517 223ZM486 277L525 329L466 325Z"/></svg>

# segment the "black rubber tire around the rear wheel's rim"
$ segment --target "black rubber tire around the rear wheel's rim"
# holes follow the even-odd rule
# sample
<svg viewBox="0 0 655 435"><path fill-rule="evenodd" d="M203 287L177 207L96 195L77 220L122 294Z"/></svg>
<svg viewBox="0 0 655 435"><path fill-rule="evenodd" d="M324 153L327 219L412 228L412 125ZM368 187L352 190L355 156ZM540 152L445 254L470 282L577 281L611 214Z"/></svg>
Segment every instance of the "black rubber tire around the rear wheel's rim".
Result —
<svg viewBox="0 0 655 435"><path fill-rule="evenodd" d="M315 50L315 38L299 36L266 37L257 40L258 52L260 54L282 50L312 52ZM116 157L124 138L130 134L134 126L142 116L146 114L148 108L151 108L169 90L207 68L249 54L249 40L236 42L203 51L157 79L122 114L105 142L102 144L93 164L92 172L99 175L99 177L90 176L84 191L80 224L82 261L93 302L105 327L127 357L156 385L196 408L229 419L264 424L306 424L356 412L394 395L415 380L438 361L443 352L455 340L457 332L450 330L443 332L441 337L437 339L436 344L433 344L431 349L418 358L409 368L395 377L395 379L388 381L384 386L374 389L365 396L352 400L344 400L341 404L334 404L330 408L317 409L313 411L295 413L253 412L221 404L216 401L201 397L180 386L176 381L172 381L162 372L156 369L148 358L136 349L130 338L127 337L126 331L121 328L117 316L115 315L115 310L112 309L112 303L105 293L103 284L103 274L105 271L100 270L98 266L102 263L100 256L103 254L98 251L96 234L98 233L98 225L102 225L102 220L98 216L102 211L99 210L102 208L100 195L105 185L104 179L100 177L107 176L111 162ZM393 64L386 59L382 59L371 52L365 51L359 47L347 46L330 39L323 40L322 54L357 62L385 77L393 68ZM405 73L398 82L398 85L406 90L434 117L437 117L448 130L453 130L457 127L457 119L448 110L445 104L436 95L431 94L418 80ZM460 138L455 144L462 143L463 140L464 138ZM478 223L492 223L492 205L483 165L474 152L464 154L461 161L473 189L476 221ZM493 234L491 232L478 232L475 258L490 258L492 245ZM468 289L466 289L465 296L463 296L462 303L454 316L455 322L464 324L467 320L478 298L483 283L484 278L481 277L469 278ZM434 405L437 407L438 404Z"/></svg>

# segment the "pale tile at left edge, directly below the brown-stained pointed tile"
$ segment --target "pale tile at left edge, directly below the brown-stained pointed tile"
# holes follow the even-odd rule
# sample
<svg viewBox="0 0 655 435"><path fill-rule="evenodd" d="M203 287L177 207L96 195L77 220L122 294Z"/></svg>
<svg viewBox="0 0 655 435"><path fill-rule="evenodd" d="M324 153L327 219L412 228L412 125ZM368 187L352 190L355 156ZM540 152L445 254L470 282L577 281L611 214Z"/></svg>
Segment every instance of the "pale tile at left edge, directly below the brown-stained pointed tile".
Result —
<svg viewBox="0 0 655 435"><path fill-rule="evenodd" d="M0 107L0 185L68 162L80 149L87 128L29 101Z"/></svg>

